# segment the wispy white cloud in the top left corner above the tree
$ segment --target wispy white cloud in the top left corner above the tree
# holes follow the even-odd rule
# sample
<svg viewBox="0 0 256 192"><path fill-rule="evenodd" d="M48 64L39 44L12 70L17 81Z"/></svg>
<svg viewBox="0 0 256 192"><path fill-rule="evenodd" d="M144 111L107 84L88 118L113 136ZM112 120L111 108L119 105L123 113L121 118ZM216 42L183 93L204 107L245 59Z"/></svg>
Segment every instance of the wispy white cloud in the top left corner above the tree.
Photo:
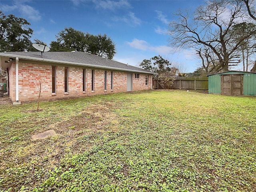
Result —
<svg viewBox="0 0 256 192"><path fill-rule="evenodd" d="M33 8L32 6L29 6L25 4L26 1L14 1L12 6L2 6L3 11L18 11L30 22L32 21L38 21L41 20L40 12Z"/></svg>

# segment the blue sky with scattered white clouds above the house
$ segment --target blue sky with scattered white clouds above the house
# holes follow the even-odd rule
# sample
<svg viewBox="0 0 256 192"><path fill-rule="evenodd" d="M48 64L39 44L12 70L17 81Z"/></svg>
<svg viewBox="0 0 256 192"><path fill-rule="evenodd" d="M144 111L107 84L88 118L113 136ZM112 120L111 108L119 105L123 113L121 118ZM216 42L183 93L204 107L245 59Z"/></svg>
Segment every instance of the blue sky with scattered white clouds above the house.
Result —
<svg viewBox="0 0 256 192"><path fill-rule="evenodd" d="M32 41L50 44L65 27L106 34L116 45L114 60L139 66L144 59L160 55L182 72L201 65L193 50L168 46L168 24L181 8L194 11L202 0L1 0L5 15L14 14L30 22Z"/></svg>

